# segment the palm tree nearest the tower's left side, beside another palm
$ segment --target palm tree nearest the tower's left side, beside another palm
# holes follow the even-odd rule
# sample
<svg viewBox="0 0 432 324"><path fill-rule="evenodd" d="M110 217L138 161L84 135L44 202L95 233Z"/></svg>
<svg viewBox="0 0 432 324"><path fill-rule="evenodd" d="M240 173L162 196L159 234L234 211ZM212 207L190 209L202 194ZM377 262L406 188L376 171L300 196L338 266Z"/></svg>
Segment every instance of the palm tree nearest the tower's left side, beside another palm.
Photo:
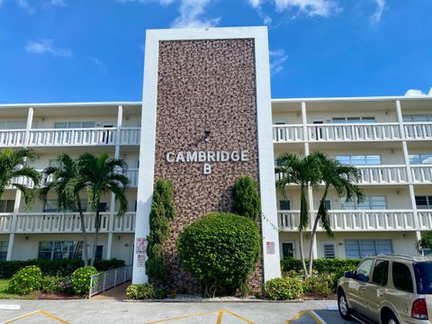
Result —
<svg viewBox="0 0 432 324"><path fill-rule="evenodd" d="M85 153L78 158L78 176L68 183L69 190L73 191L74 183L84 184L88 194L88 202L92 211L95 212L94 220L94 246L91 266L94 266L96 257L101 217L99 205L103 193L113 193L115 200L119 202L117 216L122 216L128 210L128 200L124 189L129 186L130 181L124 175L128 169L126 162L121 158L110 158L103 153L100 157Z"/></svg>

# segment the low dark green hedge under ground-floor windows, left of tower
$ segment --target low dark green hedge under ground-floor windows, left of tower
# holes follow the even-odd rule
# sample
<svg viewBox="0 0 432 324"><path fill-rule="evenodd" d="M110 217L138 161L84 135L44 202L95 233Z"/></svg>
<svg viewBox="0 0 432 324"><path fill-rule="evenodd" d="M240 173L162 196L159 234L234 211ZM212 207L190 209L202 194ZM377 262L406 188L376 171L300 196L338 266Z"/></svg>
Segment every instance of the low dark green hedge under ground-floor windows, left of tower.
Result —
<svg viewBox="0 0 432 324"><path fill-rule="evenodd" d="M11 278L24 266L38 266L42 272L42 275L50 276L67 276L82 266L84 261L82 260L27 260L27 261L0 261L0 278ZM94 267L97 271L107 271L119 266L124 266L123 260L111 259L111 260L96 260Z"/></svg>

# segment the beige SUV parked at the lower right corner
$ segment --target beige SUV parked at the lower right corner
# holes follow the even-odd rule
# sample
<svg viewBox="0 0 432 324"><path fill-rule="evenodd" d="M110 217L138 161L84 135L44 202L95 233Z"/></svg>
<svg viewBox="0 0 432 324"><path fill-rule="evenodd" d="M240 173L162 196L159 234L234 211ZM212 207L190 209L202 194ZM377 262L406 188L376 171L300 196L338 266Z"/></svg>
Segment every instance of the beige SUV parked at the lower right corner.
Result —
<svg viewBox="0 0 432 324"><path fill-rule="evenodd" d="M345 320L431 323L432 257L366 258L338 280L338 308Z"/></svg>

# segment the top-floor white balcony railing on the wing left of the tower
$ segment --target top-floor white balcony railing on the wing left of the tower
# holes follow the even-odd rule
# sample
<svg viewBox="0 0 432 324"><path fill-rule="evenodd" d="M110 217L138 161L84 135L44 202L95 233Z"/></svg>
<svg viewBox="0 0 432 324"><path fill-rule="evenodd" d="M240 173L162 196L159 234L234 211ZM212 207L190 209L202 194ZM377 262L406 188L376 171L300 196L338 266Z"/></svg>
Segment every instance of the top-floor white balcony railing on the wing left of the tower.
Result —
<svg viewBox="0 0 432 324"><path fill-rule="evenodd" d="M33 129L25 142L26 130L0 130L1 147L64 147L139 145L140 128Z"/></svg>

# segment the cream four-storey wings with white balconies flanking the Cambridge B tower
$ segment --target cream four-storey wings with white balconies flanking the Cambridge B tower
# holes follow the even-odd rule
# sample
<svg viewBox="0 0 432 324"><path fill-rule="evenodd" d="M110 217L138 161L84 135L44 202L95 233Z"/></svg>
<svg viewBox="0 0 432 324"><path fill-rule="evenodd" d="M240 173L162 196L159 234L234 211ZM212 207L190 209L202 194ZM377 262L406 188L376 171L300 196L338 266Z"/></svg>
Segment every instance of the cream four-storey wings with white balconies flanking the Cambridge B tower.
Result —
<svg viewBox="0 0 432 324"><path fill-rule="evenodd" d="M60 152L72 157L106 152L127 161L129 211L117 218L113 197L103 197L98 251L99 257L117 257L128 264L135 230L140 111L140 102L0 108L0 149L33 148L40 155L34 163L40 171L52 166ZM335 192L329 194L335 238L319 229L314 248L318 257L417 253L416 241L423 231L432 229L432 98L274 99L272 116L275 158L283 152L304 156L320 150L362 172L365 202L345 202ZM318 209L321 193L320 187L311 190L312 212ZM281 257L300 257L299 188L290 185L284 194L277 194ZM87 206L84 196L83 205ZM86 211L85 218L91 241L94 215ZM81 254L78 216L74 211L58 211L54 193L46 204L36 199L26 210L20 193L6 190L0 200L0 259Z"/></svg>

